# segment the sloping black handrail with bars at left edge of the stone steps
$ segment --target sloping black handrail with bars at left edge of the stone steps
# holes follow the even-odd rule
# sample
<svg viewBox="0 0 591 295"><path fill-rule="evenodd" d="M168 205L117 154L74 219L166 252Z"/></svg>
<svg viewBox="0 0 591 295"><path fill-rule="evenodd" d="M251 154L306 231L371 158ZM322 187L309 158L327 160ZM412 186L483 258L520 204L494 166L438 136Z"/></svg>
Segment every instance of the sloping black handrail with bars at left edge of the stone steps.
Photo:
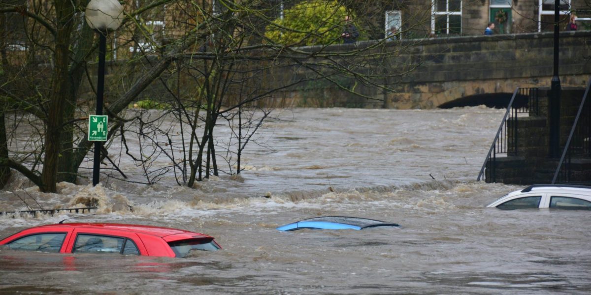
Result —
<svg viewBox="0 0 591 295"><path fill-rule="evenodd" d="M513 92L513 96L509 101L509 105L507 106L507 110L505 112L505 116L501 120L501 125L499 126L499 130L496 132L495 139L492 140L491 148L488 150L488 154L482 164L482 168L480 169L480 173L478 173L478 178L476 181L480 181L480 179L485 178L485 168L487 163L492 156L492 165L489 166L491 168L491 175L493 179L496 179L496 154L498 153L512 153L514 156L517 156L517 143L518 143L518 133L517 133L517 114L518 113L530 113L538 115L540 108L538 103L538 89L537 88L520 88L517 87ZM527 96L527 105L524 107L513 107L515 98L517 96ZM511 114L511 110L513 113ZM509 130L506 121L508 119L514 118L514 124L511 126L512 131L512 138L509 138ZM511 142L511 145L508 143Z"/></svg>

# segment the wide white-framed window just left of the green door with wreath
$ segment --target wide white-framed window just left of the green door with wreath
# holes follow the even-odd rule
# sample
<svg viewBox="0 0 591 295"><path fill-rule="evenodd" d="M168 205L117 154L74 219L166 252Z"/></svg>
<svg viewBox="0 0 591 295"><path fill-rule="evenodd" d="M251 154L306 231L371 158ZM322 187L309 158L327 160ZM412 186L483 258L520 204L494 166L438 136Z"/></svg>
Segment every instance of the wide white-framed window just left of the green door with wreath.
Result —
<svg viewBox="0 0 591 295"><path fill-rule="evenodd" d="M431 33L462 34L462 0L431 0Z"/></svg>

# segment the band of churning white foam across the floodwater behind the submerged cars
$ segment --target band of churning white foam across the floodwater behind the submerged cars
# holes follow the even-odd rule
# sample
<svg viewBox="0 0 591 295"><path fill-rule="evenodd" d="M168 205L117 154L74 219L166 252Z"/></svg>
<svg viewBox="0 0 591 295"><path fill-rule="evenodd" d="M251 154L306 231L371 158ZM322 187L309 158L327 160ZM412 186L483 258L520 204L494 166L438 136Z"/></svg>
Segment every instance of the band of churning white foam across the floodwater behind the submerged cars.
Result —
<svg viewBox="0 0 591 295"><path fill-rule="evenodd" d="M174 187L167 192L165 199L148 203L131 202L126 196L118 192L103 188L102 185L73 185L60 183L60 194L41 194L44 204L53 204L51 209L59 208L86 208L97 207L93 213L108 215L108 219L122 219L129 217L161 217L182 218L186 216L209 216L227 214L228 212L248 211L269 212L286 209L317 209L329 211L350 211L359 206L375 206L381 208L404 208L418 211L441 211L454 208L453 200L462 199L461 195L470 195L482 186L482 183L462 183L451 181L431 181L414 183L411 185L376 187L365 189L349 189L347 191L307 192L277 194L271 192L258 197L249 198L212 198L205 194L194 194L190 201L180 201L172 196L175 193L184 193L189 188ZM145 194L154 194L151 189ZM66 205L62 205L63 202ZM482 203L475 204L476 207ZM85 214L61 213L57 217L38 215L37 218L45 222L56 221L64 218L82 216ZM174 216L172 216L174 215ZM4 217L6 219L14 218ZM30 220L31 215L21 214L23 220ZM18 219L17 218L17 219ZM97 218L97 217L94 217ZM102 219L102 218L99 218ZM13 219L14 220L14 219ZM93 220L90 218L88 220Z"/></svg>

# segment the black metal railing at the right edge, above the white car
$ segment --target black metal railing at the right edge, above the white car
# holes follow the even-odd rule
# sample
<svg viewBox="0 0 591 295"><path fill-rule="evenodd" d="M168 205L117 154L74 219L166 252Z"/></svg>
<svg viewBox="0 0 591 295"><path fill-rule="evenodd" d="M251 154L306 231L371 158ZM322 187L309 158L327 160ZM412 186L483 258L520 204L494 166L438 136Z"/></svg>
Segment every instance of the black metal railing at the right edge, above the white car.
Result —
<svg viewBox="0 0 591 295"><path fill-rule="evenodd" d="M566 145L562 151L560 162L552 183L566 183L566 182L581 182L582 178L573 179L573 158L583 163L584 160L589 162L591 158L591 101L589 101L589 89L591 89L591 80L587 83L587 88L581 99L577 116L574 118L573 126L570 129L569 138L566 140ZM566 162L565 162L566 160ZM591 182L591 179L587 179Z"/></svg>

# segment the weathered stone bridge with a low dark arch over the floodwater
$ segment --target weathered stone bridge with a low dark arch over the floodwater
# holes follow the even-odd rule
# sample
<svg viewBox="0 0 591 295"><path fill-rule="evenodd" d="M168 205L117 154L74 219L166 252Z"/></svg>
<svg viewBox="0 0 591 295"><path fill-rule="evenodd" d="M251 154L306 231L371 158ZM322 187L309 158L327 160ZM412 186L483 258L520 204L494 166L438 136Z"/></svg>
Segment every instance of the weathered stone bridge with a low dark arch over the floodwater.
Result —
<svg viewBox="0 0 591 295"><path fill-rule="evenodd" d="M418 64L410 73L387 81L395 91L369 86L356 89L376 99L371 100L317 81L282 91L275 104L395 109L502 106L516 87L547 87L553 75L551 32L401 40L389 45L406 48L394 59ZM350 50L350 46L363 44L337 46ZM584 87L591 78L591 31L561 32L559 56L561 86ZM280 78L294 73L275 74ZM311 71L297 74L313 75Z"/></svg>

